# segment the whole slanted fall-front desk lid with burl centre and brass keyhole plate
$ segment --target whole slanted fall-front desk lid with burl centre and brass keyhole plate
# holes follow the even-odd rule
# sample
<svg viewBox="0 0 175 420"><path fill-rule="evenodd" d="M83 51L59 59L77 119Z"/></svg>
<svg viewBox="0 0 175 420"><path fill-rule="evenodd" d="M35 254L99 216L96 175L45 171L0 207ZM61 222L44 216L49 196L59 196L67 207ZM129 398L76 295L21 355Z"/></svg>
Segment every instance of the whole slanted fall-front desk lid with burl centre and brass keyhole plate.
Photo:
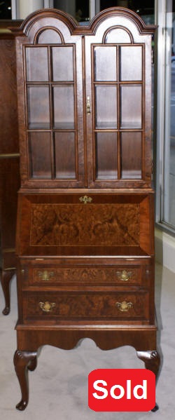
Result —
<svg viewBox="0 0 175 420"><path fill-rule="evenodd" d="M153 194L20 194L18 255L153 255Z"/></svg>

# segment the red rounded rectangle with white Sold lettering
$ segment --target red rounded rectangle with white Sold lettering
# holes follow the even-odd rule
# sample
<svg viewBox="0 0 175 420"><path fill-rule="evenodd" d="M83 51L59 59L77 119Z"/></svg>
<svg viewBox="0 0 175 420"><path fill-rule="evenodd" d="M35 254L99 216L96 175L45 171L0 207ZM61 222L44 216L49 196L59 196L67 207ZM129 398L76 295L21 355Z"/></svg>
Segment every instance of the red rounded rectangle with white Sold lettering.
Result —
<svg viewBox="0 0 175 420"><path fill-rule="evenodd" d="M147 412L155 407L155 374L146 369L97 369L88 377L96 412Z"/></svg>

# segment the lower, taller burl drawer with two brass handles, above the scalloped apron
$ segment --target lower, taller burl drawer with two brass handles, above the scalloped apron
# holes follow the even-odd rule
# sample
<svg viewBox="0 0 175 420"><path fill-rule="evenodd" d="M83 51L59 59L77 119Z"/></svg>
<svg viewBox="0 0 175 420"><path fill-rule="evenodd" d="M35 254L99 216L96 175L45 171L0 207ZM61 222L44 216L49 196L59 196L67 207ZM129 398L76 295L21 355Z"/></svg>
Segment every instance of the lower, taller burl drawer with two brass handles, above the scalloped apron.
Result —
<svg viewBox="0 0 175 420"><path fill-rule="evenodd" d="M25 320L148 320L149 297L139 292L23 292Z"/></svg>

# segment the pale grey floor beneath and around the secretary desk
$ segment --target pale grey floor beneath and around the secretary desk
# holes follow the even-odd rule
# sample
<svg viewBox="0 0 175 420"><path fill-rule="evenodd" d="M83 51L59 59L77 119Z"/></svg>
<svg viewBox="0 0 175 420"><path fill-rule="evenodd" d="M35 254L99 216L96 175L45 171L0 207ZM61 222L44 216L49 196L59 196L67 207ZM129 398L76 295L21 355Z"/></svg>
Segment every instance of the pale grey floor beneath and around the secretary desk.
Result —
<svg viewBox="0 0 175 420"><path fill-rule="evenodd" d="M87 376L98 368L143 368L134 348L129 346L102 351L90 339L64 351L43 347L35 372L29 372L30 398L25 412L15 405L20 388L13 368L16 349L15 322L18 318L15 279L12 282L12 308L9 316L0 315L0 418L8 420L172 420L175 412L175 274L156 266L156 307L158 344L162 370L157 386L158 412L94 412L87 407ZM0 294L0 307L3 297Z"/></svg>

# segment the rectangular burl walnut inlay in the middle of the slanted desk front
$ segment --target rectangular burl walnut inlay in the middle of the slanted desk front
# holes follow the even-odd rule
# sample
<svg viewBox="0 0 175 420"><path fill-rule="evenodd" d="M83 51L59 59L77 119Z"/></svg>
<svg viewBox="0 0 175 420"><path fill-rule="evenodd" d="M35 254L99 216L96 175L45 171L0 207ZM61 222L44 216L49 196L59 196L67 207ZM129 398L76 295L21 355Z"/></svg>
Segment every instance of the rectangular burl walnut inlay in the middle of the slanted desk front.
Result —
<svg viewBox="0 0 175 420"><path fill-rule="evenodd" d="M30 245L139 245L139 205L33 204Z"/></svg>

